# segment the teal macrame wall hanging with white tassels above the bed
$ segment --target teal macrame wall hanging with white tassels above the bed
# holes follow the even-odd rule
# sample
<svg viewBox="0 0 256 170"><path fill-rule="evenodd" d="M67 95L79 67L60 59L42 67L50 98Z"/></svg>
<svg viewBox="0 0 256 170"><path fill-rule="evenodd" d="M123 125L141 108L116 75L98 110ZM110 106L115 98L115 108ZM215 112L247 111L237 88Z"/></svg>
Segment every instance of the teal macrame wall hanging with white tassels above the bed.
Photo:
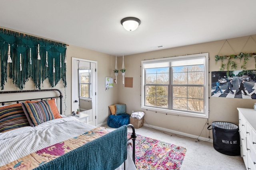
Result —
<svg viewBox="0 0 256 170"><path fill-rule="evenodd" d="M20 90L29 78L38 89L46 79L66 87L66 54L66 44L0 28L1 90L7 76Z"/></svg>

